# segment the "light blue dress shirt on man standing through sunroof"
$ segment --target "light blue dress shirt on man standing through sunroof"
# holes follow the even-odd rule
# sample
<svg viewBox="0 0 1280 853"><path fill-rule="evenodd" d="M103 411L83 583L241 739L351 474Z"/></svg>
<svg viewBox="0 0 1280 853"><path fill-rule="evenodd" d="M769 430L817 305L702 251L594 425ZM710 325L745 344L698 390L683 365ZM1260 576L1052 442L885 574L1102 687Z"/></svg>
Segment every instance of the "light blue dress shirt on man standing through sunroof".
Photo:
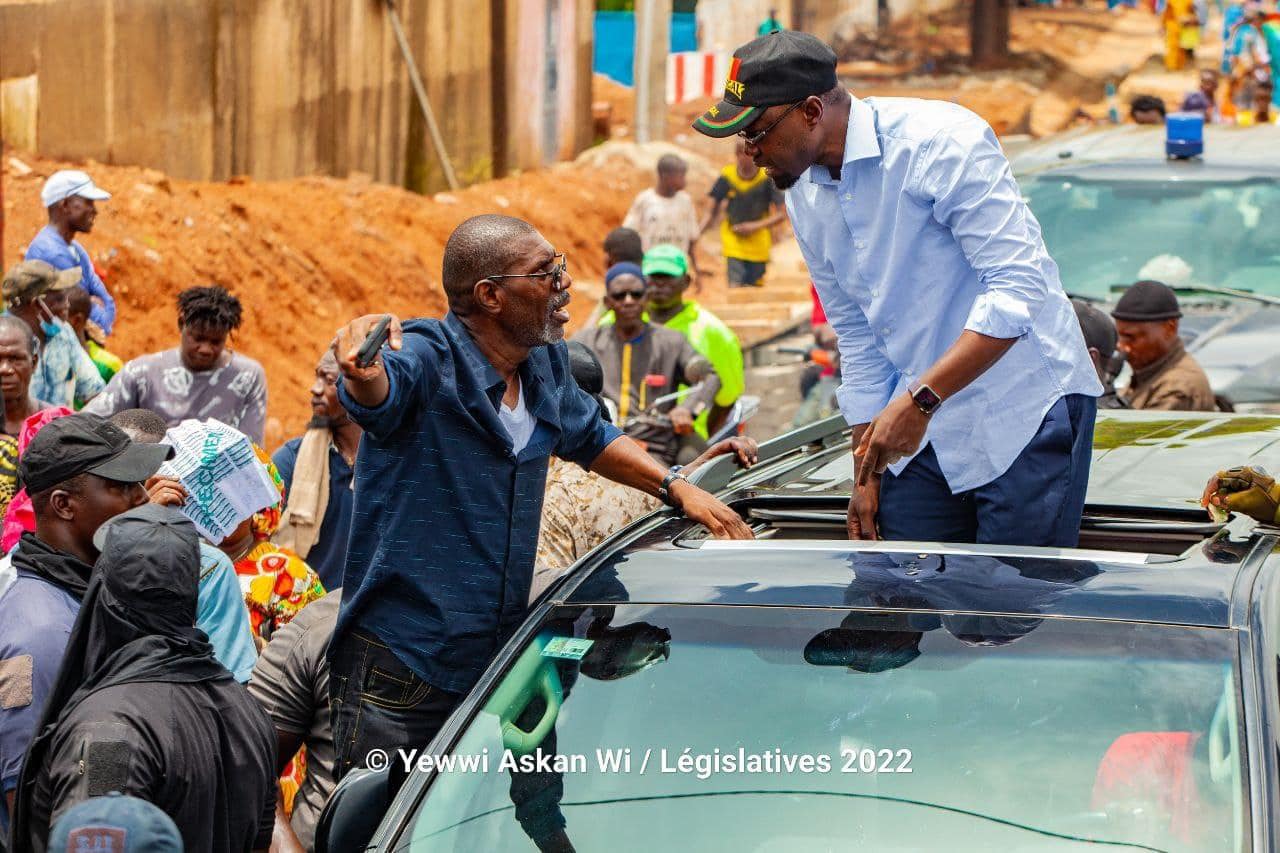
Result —
<svg viewBox="0 0 1280 853"><path fill-rule="evenodd" d="M922 447L952 492L1009 470L1060 397L1102 393L1039 223L995 133L963 106L852 99L840 179L812 167L787 210L840 337L850 424L873 420L965 329L1018 338L929 419Z"/></svg>

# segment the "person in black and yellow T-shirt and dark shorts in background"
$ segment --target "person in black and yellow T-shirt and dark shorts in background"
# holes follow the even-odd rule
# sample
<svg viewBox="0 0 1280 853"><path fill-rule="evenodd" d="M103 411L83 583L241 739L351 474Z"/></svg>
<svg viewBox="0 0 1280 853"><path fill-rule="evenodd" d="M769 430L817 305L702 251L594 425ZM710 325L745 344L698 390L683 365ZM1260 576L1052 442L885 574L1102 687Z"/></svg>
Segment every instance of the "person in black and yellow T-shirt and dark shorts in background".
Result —
<svg viewBox="0 0 1280 853"><path fill-rule="evenodd" d="M721 170L712 186L712 210L703 232L716 224L721 213L721 246L728 268L730 287L759 287L773 247L771 228L786 219L782 193L764 169L746 154L746 142L737 140L736 161Z"/></svg>

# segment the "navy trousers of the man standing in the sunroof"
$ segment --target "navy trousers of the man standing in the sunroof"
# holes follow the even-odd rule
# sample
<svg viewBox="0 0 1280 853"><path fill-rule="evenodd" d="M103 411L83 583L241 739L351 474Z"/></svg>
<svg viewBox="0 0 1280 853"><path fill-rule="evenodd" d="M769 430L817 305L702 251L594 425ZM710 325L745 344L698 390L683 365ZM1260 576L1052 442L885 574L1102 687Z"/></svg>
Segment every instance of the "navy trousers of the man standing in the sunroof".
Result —
<svg viewBox="0 0 1280 853"><path fill-rule="evenodd" d="M932 446L881 483L883 539L1074 548L1089 484L1097 400L1068 394L991 483L952 494Z"/></svg>

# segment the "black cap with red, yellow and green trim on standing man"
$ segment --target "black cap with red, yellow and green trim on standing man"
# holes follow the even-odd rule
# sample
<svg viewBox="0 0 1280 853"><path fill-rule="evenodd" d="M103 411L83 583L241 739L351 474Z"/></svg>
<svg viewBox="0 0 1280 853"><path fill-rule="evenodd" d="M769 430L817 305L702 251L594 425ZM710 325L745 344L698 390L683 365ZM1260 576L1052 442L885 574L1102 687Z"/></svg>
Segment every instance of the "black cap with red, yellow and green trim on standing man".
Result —
<svg viewBox="0 0 1280 853"><path fill-rule="evenodd" d="M716 138L739 133L760 113L795 104L837 86L836 54L806 32L783 29L749 41L733 51L724 81L724 99L694 129Z"/></svg>

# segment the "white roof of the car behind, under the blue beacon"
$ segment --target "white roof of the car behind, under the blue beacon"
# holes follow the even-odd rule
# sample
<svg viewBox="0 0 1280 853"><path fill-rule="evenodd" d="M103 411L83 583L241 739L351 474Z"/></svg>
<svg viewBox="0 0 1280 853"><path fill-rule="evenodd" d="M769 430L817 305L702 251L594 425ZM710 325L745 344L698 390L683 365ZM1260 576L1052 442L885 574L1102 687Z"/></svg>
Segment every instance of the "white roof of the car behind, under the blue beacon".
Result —
<svg viewBox="0 0 1280 853"><path fill-rule="evenodd" d="M1280 127L1210 126L1204 154L1165 156L1165 128L1123 124L1056 136L1021 149L1010 160L1019 177L1052 174L1128 181L1244 181L1280 178L1275 150Z"/></svg>

